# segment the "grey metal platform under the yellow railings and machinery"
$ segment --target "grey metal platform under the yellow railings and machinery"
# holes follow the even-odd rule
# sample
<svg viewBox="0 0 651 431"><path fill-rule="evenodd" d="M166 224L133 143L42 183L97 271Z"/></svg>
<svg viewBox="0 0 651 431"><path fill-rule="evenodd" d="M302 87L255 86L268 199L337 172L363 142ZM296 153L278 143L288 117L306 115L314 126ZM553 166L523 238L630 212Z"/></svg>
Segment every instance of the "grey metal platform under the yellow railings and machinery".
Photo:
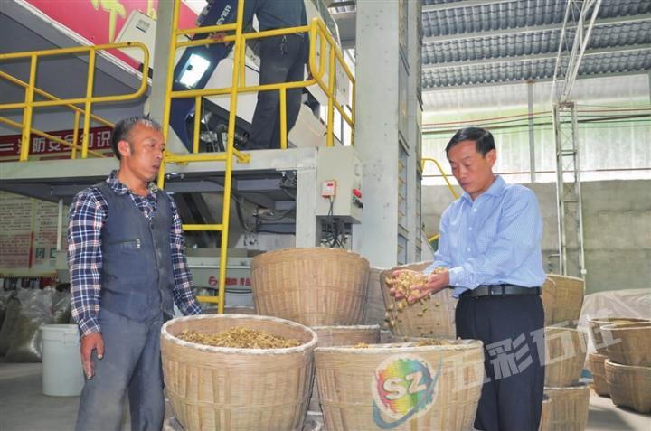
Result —
<svg viewBox="0 0 651 431"><path fill-rule="evenodd" d="M316 244L316 171L318 148L288 148L251 152L250 163L233 164L232 191L271 210L296 205L296 245ZM0 190L69 203L80 190L104 180L118 168L114 158L0 163ZM222 192L223 162L167 164L166 192ZM296 195L282 187L295 175ZM296 202L296 203L295 203Z"/></svg>

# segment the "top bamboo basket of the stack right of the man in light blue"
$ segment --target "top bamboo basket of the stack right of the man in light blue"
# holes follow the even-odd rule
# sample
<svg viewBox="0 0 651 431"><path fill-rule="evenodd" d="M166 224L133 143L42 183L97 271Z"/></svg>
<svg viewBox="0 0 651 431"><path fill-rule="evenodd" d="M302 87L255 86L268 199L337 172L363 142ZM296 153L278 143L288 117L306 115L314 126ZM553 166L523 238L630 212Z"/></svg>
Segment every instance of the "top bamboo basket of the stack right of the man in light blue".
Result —
<svg viewBox="0 0 651 431"><path fill-rule="evenodd" d="M553 324L563 323L576 328L583 306L585 282L575 276L548 274L554 284Z"/></svg>

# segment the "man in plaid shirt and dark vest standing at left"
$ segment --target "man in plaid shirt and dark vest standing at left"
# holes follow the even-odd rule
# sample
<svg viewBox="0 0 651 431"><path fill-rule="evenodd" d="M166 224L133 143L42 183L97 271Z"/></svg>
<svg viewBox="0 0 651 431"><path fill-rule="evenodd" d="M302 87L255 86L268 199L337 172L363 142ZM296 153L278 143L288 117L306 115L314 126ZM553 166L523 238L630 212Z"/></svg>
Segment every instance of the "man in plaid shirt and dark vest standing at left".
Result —
<svg viewBox="0 0 651 431"><path fill-rule="evenodd" d="M160 329L173 303L201 314L175 202L152 183L163 159L161 126L120 121L111 145L120 162L106 182L71 204L68 265L72 315L87 379L78 430L119 429L128 393L131 429L163 426Z"/></svg>

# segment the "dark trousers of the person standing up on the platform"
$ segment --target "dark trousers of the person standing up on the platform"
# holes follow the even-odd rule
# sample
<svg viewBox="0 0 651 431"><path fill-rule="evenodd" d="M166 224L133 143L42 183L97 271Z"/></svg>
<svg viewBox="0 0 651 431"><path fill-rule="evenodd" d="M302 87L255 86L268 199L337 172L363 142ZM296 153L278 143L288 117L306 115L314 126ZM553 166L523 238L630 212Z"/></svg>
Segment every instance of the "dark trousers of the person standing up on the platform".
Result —
<svg viewBox="0 0 651 431"><path fill-rule="evenodd" d="M306 45L302 34L288 34L260 42L260 85L305 78ZM296 124L303 89L287 90L287 132ZM247 149L280 148L280 93L260 91Z"/></svg>

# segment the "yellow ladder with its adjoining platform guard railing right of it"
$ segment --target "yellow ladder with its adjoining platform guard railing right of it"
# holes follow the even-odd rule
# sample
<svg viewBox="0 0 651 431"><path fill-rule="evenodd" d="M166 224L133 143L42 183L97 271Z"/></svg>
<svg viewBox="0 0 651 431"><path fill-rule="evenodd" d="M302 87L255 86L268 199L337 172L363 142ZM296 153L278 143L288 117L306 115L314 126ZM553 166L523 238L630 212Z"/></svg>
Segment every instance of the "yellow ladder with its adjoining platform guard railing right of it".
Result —
<svg viewBox="0 0 651 431"><path fill-rule="evenodd" d="M314 19L309 25L303 25L292 28L269 30L259 33L242 33L242 19L244 12L244 1L238 2L237 16L235 23L212 25L200 28L191 29L178 29L179 23L180 0L175 0L174 13L173 13L173 31L170 41L170 52L167 63L167 82L166 82L166 97L165 108L163 114L163 130L165 134L165 142L167 141L169 133L169 120L170 111L173 98L193 98L194 99L194 124L193 124L193 144L192 153L188 155L175 155L169 151L165 152L161 170L158 173L158 186L165 185L165 169L166 164L176 163L185 164L190 162L208 162L208 161L223 161L225 162L224 171L224 190L223 190L223 206L222 206L222 223L221 224L205 224L205 225L184 225L184 230L212 230L222 232L221 250L220 250L220 277L219 289L217 296L198 296L197 299L202 302L216 303L218 305L218 313L223 313L224 297L226 287L226 266L227 266L227 248L228 248L228 231L229 231L229 215L231 211L231 177L232 177L232 163L233 157L236 157L241 163L248 163L250 155L242 153L234 147L235 137L235 121L237 117L237 100L239 94L253 93L259 91L272 91L279 92L279 133L280 133L280 147L287 148L287 91L288 89L299 89L311 85L318 85L328 98L328 113L326 121L326 146L334 145L333 137L333 122L334 110L337 109L344 121L351 127L351 143L354 145L354 75L348 68L344 61L344 56L336 45L332 35L325 27L325 23L319 19ZM179 36L203 33L227 33L223 39L217 41L212 38L199 39L193 41L179 42ZM296 82L278 82L274 84L265 84L257 86L247 86L245 78L245 50L246 41L252 39L259 39L263 37L279 36L292 33L309 33L309 58L308 69L310 71L310 78ZM321 53L319 61L316 60L316 41L319 42L319 52ZM213 43L233 42L233 70L231 87L220 89L187 89L187 90L174 90L174 68L175 68L175 52L180 48L187 48L192 46L210 45ZM326 45L329 46L327 52L327 67L325 60ZM336 94L336 80L335 72L337 64L343 68L345 74L351 82L351 89L353 92L352 102L350 106L350 115L345 111L335 98ZM324 82L325 72L328 73L328 80ZM201 112L202 98L230 95L231 104L229 111L229 125L228 125L228 142L226 151L223 153L199 153L199 131L201 126L201 116L196 113Z"/></svg>

